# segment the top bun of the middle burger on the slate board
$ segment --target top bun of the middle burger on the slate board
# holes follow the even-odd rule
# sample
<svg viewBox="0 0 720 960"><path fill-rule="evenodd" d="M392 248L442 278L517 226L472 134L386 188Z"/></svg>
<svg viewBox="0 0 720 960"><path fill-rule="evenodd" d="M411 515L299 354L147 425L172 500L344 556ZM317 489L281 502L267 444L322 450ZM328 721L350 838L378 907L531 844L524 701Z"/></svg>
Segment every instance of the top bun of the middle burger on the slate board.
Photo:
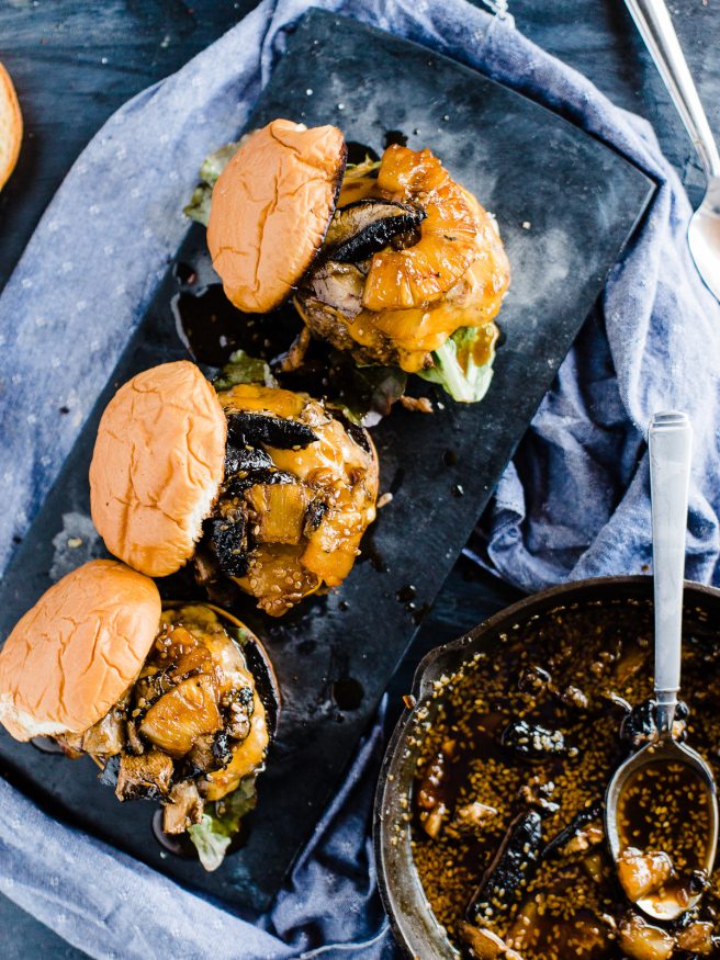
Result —
<svg viewBox="0 0 720 960"><path fill-rule="evenodd" d="M105 546L150 577L194 553L223 481L227 421L194 363L139 373L108 404L90 464L90 510Z"/></svg>

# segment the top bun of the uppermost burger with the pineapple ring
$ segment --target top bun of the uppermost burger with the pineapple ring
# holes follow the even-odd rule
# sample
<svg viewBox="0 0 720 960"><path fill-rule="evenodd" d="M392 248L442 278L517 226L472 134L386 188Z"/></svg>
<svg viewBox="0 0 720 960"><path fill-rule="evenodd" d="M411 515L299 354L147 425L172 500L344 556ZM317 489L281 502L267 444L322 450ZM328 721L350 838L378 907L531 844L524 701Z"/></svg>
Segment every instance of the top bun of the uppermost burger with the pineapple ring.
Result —
<svg viewBox="0 0 720 960"><path fill-rule="evenodd" d="M236 307L263 314L288 297L325 239L346 159L337 127L289 120L235 154L213 190L207 246Z"/></svg>

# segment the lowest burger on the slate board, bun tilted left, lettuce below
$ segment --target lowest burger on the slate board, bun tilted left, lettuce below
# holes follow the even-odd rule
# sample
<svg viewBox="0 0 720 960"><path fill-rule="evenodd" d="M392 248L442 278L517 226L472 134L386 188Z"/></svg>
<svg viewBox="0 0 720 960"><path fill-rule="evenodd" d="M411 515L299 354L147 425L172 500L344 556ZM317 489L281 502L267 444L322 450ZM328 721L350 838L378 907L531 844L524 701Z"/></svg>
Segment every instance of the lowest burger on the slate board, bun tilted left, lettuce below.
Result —
<svg viewBox="0 0 720 960"><path fill-rule="evenodd" d="M258 639L206 605L162 607L148 577L97 560L65 576L0 651L0 723L88 754L119 800L164 804L215 869L274 732L279 692Z"/></svg>

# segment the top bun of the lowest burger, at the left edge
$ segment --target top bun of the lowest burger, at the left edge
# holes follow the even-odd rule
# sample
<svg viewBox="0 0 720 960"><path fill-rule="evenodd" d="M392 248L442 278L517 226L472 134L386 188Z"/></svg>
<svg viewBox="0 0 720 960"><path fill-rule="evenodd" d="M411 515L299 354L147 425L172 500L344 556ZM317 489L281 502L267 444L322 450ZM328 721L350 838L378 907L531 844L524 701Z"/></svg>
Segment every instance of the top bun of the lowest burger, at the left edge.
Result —
<svg viewBox="0 0 720 960"><path fill-rule="evenodd" d="M23 741L88 730L136 679L160 613L153 580L115 561L63 577L0 651L0 722Z"/></svg>

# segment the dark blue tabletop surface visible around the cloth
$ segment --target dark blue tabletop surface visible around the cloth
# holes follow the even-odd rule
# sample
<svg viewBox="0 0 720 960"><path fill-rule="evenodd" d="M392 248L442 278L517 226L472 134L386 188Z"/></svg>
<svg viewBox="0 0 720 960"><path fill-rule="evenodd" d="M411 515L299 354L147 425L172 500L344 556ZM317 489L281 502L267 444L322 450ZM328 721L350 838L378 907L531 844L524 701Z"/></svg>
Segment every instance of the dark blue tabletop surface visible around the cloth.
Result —
<svg viewBox="0 0 720 960"><path fill-rule="evenodd" d="M25 115L19 168L0 194L0 289L65 172L102 122L135 92L172 72L255 4L198 0L0 0L0 60ZM617 103L646 116L693 199L701 178L691 145L621 0L510 0L517 25L585 72ZM720 132L720 10L673 3L675 23L713 128ZM423 648L463 632L514 594L459 562L418 637ZM417 662L420 650L414 653ZM407 688L398 678L395 692ZM3 958L81 957L0 897Z"/></svg>

